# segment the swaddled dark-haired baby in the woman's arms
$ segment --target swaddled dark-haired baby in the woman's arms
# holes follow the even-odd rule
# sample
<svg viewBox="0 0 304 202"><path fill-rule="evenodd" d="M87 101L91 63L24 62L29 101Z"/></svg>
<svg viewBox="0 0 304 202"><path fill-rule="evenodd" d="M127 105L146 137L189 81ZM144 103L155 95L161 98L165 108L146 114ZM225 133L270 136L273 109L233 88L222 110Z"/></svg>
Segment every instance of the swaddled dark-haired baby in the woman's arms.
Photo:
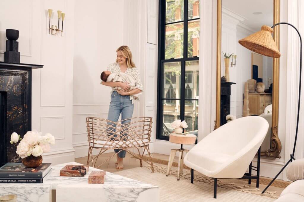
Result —
<svg viewBox="0 0 304 202"><path fill-rule="evenodd" d="M129 83L129 91L136 89L136 80L133 78L133 76L131 76L130 74L126 74L123 72L119 72L119 73L111 73L110 71L103 71L100 75L100 79L104 82L128 82ZM102 83L102 82L100 82ZM121 87L112 87L113 90L122 90L124 91ZM138 99L138 96L140 96L141 93L137 93L135 95L133 95L134 99Z"/></svg>

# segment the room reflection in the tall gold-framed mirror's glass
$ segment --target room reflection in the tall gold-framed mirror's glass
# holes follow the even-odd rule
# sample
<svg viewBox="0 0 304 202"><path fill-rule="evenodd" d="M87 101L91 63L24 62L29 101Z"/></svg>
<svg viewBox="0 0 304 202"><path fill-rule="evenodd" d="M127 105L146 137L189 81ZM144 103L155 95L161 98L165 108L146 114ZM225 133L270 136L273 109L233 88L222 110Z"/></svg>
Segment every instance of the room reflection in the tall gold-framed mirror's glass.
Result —
<svg viewBox="0 0 304 202"><path fill-rule="evenodd" d="M273 1L222 0L220 123L229 114L263 117L269 123L263 151L271 147L273 60L238 43L262 25L273 25Z"/></svg>

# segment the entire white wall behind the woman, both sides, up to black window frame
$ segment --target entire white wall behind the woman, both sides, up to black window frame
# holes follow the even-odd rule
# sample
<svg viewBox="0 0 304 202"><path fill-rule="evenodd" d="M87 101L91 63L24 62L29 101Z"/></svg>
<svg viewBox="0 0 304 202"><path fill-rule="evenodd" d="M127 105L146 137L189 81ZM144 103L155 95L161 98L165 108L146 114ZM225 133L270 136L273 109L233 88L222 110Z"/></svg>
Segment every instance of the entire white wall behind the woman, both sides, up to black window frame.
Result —
<svg viewBox="0 0 304 202"><path fill-rule="evenodd" d="M144 85L140 102L134 103L133 117L144 114L153 117L151 142L155 141L156 97L155 99L146 99L146 97L153 94L156 96L157 8L157 0L75 1L73 78L75 157L84 157L88 154L85 117L107 118L108 116L111 88L99 83L100 73L110 63L115 62L116 49L121 45L128 45L131 49ZM152 29L149 32L148 19ZM153 34L154 32L156 35ZM147 33L149 33L149 44ZM146 57L147 55L149 57Z"/></svg>

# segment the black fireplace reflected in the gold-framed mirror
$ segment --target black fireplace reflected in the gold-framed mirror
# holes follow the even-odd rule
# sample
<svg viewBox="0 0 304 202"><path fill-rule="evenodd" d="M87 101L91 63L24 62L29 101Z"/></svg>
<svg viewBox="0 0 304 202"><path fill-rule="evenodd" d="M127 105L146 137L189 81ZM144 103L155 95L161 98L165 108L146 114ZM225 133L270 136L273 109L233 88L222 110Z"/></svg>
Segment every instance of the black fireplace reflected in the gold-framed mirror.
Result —
<svg viewBox="0 0 304 202"><path fill-rule="evenodd" d="M230 95L232 84L237 83L221 81L221 126L227 123L226 116L230 114Z"/></svg>

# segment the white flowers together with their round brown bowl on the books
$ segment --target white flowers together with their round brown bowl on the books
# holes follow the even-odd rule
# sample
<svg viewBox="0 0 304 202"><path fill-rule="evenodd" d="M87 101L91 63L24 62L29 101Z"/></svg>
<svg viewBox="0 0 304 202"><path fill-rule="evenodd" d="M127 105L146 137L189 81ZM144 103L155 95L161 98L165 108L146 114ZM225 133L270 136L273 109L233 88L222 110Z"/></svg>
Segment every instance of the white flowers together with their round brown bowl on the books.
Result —
<svg viewBox="0 0 304 202"><path fill-rule="evenodd" d="M20 142L19 142L20 140ZM51 133L46 133L44 136L36 130L27 131L23 139L17 133L12 133L11 144L16 144L16 153L21 158L23 165L29 168L35 168L41 165L41 154L50 151L50 145L55 144L55 138Z"/></svg>

